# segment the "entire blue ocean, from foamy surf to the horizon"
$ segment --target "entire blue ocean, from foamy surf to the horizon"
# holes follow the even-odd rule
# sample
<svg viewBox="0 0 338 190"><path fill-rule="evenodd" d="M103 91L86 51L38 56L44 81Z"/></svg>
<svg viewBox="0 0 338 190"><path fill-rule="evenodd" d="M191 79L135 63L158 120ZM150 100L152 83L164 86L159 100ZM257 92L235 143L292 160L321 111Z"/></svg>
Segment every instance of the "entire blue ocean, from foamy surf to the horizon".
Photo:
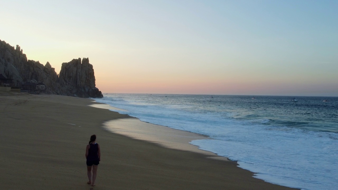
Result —
<svg viewBox="0 0 338 190"><path fill-rule="evenodd" d="M191 144L254 177L305 190L338 187L338 97L105 94L141 121L207 135ZM327 99L328 102L323 102Z"/></svg>

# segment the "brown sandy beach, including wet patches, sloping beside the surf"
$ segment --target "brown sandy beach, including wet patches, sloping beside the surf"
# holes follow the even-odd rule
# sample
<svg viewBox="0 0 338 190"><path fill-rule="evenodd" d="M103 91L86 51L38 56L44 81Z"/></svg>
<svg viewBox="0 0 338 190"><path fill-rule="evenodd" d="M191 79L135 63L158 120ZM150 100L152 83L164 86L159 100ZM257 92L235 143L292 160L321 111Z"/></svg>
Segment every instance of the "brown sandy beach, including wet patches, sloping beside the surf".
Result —
<svg viewBox="0 0 338 190"><path fill-rule="evenodd" d="M1 189L292 189L256 179L236 162L188 144L205 136L92 104L99 103L0 92ZM101 147L95 187L86 184L84 156L93 134Z"/></svg>

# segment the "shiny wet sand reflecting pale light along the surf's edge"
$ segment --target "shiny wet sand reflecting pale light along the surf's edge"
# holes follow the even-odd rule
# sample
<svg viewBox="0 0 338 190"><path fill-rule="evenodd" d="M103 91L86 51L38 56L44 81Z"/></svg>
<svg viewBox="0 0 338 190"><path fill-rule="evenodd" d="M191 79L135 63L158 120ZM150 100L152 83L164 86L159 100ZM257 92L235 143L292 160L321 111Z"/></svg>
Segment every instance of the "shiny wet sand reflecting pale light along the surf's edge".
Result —
<svg viewBox="0 0 338 190"><path fill-rule="evenodd" d="M96 101L95 101L96 102ZM116 108L109 104L96 102L98 104L92 104L95 108L126 111L120 108ZM104 104L102 106L102 104ZM98 105L98 106L96 106ZM113 111L115 112L115 111ZM125 114L126 115L126 114ZM127 115L129 116L129 115ZM211 139L207 135L188 132L186 130L174 129L168 126L158 125L141 121L139 118L129 116L130 118L114 119L103 123L103 127L110 133L117 133L127 137L131 137L138 140L144 140L148 142L157 143L166 148L173 148L178 150L185 150L191 152L201 153L207 155L208 158L231 161L226 157L219 156L211 151L199 149L198 146L190 144L193 140ZM123 128L116 128L114 125L123 124ZM154 131L156 131L154 133ZM143 135L140 135L140 132ZM166 134L163 136L163 134ZM168 138L170 136L170 139ZM235 162L235 161L231 161ZM237 162L235 162L237 163Z"/></svg>

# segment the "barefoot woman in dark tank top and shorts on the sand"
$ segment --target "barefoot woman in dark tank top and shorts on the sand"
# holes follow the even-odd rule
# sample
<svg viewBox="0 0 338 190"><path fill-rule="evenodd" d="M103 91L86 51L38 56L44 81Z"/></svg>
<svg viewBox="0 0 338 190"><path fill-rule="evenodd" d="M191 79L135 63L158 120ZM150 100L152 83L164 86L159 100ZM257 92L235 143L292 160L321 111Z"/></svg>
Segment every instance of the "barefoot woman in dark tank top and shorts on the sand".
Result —
<svg viewBox="0 0 338 190"><path fill-rule="evenodd" d="M101 152L100 145L96 142L96 135L90 137L89 144L86 147L86 159L87 159L87 175L89 182L87 184L92 184L95 186L97 165L99 165ZM93 180L92 180L92 167L93 167Z"/></svg>

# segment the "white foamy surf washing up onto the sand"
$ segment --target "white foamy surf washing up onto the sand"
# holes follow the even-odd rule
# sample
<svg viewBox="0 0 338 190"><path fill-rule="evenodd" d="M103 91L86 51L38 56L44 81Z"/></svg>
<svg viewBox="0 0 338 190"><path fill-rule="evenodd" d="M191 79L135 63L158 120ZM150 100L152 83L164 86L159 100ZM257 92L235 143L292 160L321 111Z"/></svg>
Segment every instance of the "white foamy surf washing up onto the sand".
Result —
<svg viewBox="0 0 338 190"><path fill-rule="evenodd" d="M240 120L221 112L188 112L177 106L142 100L96 99L141 121L208 135L191 144L237 161L254 177L305 190L335 190L338 186L338 133L267 126L268 119Z"/></svg>

